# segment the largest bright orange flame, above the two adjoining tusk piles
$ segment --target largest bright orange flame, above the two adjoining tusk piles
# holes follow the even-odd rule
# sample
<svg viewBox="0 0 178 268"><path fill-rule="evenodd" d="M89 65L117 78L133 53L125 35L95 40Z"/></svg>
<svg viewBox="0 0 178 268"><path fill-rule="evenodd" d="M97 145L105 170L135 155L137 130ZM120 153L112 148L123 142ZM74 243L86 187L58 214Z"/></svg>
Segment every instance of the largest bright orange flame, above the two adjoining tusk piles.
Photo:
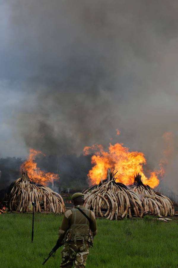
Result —
<svg viewBox="0 0 178 268"><path fill-rule="evenodd" d="M150 178L147 178L143 172L143 165L146 159L142 152L129 152L129 148L123 147L123 144L109 144L109 152L105 152L102 145L93 144L84 148L84 155L88 155L90 151L95 154L91 158L94 164L88 173L91 184L99 183L101 178L107 175L107 168L117 170L116 182L130 185L134 182L134 174L140 173L144 184L148 184L154 188L159 184L158 176L164 174L164 169L160 166L160 170L150 172Z"/></svg>

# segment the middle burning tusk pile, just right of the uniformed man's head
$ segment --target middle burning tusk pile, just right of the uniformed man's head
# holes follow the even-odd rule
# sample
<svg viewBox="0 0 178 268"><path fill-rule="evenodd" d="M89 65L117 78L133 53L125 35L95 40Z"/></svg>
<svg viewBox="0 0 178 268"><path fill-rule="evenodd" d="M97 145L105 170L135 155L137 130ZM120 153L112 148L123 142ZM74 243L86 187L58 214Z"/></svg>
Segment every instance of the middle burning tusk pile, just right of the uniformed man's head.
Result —
<svg viewBox="0 0 178 268"><path fill-rule="evenodd" d="M124 184L116 183L115 174L108 169L105 180L83 191L85 208L93 210L96 216L110 220L127 216L142 217L143 207L139 196Z"/></svg>

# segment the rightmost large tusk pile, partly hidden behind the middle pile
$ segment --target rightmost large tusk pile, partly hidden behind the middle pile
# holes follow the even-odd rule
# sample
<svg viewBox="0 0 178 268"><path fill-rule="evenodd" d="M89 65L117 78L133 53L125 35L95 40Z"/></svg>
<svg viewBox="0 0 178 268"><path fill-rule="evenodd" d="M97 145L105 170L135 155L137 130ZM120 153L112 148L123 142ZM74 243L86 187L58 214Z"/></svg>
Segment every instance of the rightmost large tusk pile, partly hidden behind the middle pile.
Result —
<svg viewBox="0 0 178 268"><path fill-rule="evenodd" d="M136 174L134 177L134 183L130 185L130 189L135 191L142 200L144 213L155 214L159 217L174 215L174 206L168 197L154 192L150 186L144 185L141 175Z"/></svg>

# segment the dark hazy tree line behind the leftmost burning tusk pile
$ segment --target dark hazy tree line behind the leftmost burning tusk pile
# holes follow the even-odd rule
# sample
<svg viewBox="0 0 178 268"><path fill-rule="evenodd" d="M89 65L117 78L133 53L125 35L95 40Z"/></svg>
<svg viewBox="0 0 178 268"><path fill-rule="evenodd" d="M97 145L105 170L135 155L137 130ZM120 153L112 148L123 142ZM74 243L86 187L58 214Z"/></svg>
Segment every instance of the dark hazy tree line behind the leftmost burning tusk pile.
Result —
<svg viewBox="0 0 178 268"><path fill-rule="evenodd" d="M58 191L60 191L60 188L82 190L88 187L87 174L92 167L91 155L39 155L36 162L40 169L59 175L60 179L55 182L55 188ZM20 165L22 163L21 158L0 158L0 189L8 187L12 181L20 177Z"/></svg>

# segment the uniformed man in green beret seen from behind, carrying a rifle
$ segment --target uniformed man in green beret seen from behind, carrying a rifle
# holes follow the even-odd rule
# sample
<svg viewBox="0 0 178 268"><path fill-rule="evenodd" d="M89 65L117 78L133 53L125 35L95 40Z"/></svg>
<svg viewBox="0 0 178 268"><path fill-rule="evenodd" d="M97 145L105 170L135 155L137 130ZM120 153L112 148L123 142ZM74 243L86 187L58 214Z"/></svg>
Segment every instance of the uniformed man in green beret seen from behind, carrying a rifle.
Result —
<svg viewBox="0 0 178 268"><path fill-rule="evenodd" d="M72 195L74 208L66 211L59 228L58 242L63 244L60 267L85 267L89 248L93 246L93 237L97 233L93 211L83 207L84 194Z"/></svg>

